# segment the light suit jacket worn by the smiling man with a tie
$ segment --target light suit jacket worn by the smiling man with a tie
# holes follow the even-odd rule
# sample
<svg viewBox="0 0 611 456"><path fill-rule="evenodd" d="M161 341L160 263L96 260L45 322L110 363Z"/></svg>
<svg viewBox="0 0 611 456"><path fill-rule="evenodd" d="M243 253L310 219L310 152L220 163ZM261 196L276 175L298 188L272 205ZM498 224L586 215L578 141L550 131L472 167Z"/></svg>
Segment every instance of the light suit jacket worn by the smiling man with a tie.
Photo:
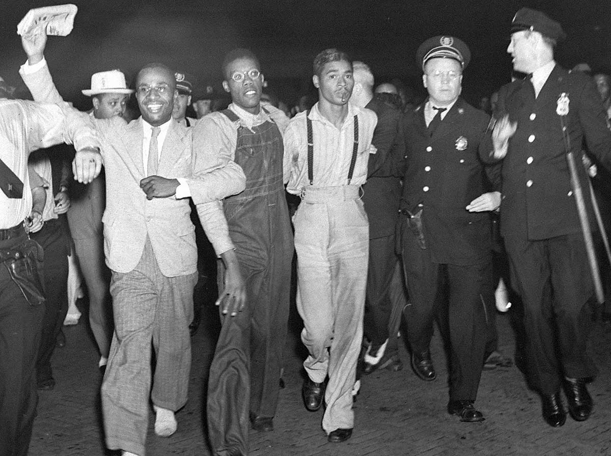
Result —
<svg viewBox="0 0 611 456"><path fill-rule="evenodd" d="M46 65L35 73L20 73L34 100L61 99ZM197 249L188 198L149 201L140 188L141 179L147 177L142 161L141 118L129 124L118 117L96 119L95 126L106 168L103 222L108 267L116 272L134 269L148 236L166 277L196 272ZM221 199L244 190L246 176L238 165L196 153L192 150L191 129L170 120L157 174L169 179L186 178L200 222L216 252L233 248Z"/></svg>

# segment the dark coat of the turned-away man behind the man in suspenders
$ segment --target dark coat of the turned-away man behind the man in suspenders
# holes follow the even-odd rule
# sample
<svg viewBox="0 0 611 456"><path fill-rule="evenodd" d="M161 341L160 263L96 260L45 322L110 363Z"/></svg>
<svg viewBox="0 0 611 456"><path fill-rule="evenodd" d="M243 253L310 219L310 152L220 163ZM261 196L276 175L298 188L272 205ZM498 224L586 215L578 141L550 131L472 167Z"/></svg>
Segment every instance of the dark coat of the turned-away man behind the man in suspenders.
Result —
<svg viewBox="0 0 611 456"><path fill-rule="evenodd" d="M369 156L362 198L369 219L369 237L376 239L395 234L405 145L399 110L375 98L365 107L378 116L378 125L371 139L378 151Z"/></svg>

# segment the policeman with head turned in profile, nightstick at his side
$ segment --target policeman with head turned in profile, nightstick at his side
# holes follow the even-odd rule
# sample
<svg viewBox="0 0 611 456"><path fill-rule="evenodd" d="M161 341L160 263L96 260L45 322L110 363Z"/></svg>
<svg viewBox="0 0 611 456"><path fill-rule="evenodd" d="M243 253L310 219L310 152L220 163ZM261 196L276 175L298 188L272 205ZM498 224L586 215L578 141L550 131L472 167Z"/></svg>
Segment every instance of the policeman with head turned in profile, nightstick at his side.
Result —
<svg viewBox="0 0 611 456"><path fill-rule="evenodd" d="M491 138L493 156L504 157L500 228L512 284L524 302L529 377L541 394L543 417L554 427L566 419L563 383L571 416L577 421L590 416L585 382L596 374L586 350L593 281L561 120L578 162L585 138L602 164L611 163L611 135L595 84L554 62L554 46L565 36L560 24L542 12L522 8L516 13L507 52L514 70L529 77L500 90ZM577 171L587 188L584 168ZM590 198L585 199L592 214Z"/></svg>

